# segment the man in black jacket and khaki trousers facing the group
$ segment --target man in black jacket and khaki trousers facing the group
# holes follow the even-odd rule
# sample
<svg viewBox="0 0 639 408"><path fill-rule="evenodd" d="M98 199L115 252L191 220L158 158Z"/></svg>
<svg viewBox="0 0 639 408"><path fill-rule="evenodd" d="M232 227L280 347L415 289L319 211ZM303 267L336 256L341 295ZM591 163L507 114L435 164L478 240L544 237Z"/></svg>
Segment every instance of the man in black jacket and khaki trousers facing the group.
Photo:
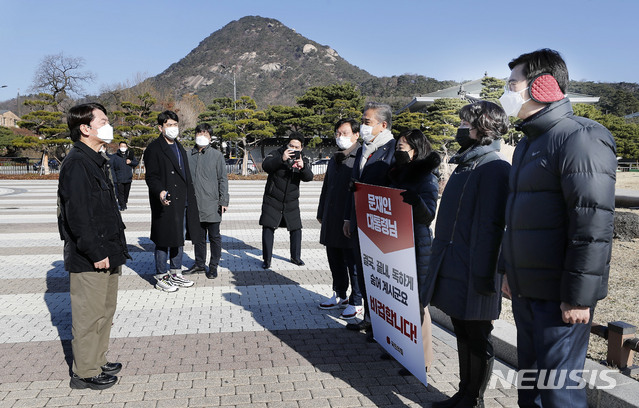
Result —
<svg viewBox="0 0 639 408"><path fill-rule="evenodd" d="M71 388L103 390L117 382L120 363L109 363L111 322L118 277L129 258L108 159L99 153L113 139L106 109L87 103L69 109L75 143L62 162L58 183L58 228L69 274L73 376Z"/></svg>

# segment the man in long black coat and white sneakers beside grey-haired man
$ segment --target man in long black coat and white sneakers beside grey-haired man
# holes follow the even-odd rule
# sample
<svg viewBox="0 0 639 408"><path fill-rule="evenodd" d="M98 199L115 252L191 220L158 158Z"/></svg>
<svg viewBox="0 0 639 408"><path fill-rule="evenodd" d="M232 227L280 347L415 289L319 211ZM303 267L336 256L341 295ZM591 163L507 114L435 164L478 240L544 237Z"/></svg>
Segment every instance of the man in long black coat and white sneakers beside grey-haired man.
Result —
<svg viewBox="0 0 639 408"><path fill-rule="evenodd" d="M344 308L349 305L346 291L351 276L351 298L361 297L354 273L353 241L342 232L344 208L346 200L350 198L348 184L353 172L355 153L360 147L358 137L359 123L355 119L342 119L335 124L335 142L339 150L328 162L317 207L317 220L322 224L320 243L326 246L328 265L333 275L333 296L320 303L320 309Z"/></svg>

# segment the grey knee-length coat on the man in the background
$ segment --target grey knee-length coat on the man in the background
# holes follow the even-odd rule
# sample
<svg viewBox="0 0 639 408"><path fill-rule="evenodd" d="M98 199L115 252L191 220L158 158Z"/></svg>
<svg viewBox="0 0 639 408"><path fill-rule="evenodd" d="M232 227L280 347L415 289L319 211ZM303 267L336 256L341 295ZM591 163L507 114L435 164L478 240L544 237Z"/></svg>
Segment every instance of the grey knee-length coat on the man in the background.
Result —
<svg viewBox="0 0 639 408"><path fill-rule="evenodd" d="M189 154L189 167L200 222L221 222L220 207L229 205L229 182L226 178L224 155L211 146L202 151L194 147Z"/></svg>

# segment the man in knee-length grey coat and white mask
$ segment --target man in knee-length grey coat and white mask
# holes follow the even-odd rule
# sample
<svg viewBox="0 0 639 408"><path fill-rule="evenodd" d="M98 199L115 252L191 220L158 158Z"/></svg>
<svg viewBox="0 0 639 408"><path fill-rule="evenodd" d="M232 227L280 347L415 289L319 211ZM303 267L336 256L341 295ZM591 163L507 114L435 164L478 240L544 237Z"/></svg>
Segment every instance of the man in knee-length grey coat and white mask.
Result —
<svg viewBox="0 0 639 408"><path fill-rule="evenodd" d="M220 222L222 214L229 205L228 180L224 156L219 150L211 147L213 129L208 123L195 128L195 147L189 155L191 179L195 187L198 210L200 214L199 239L193 239L195 246L195 265L185 274L205 272L209 279L217 278L217 266L222 256L222 236ZM209 270L204 265L206 259L206 235L211 242L211 258Z"/></svg>

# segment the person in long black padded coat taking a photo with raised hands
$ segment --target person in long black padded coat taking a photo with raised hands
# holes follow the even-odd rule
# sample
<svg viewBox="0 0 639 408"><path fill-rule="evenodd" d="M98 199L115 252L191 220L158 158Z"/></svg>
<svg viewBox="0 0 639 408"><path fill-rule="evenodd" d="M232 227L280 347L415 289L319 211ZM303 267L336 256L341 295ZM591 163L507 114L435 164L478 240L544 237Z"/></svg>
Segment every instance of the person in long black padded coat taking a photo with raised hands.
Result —
<svg viewBox="0 0 639 408"><path fill-rule="evenodd" d="M291 262L302 266L302 219L300 217L300 181L313 180L308 157L302 155L304 136L293 132L288 143L270 152L262 162L268 173L262 200L262 268L271 267L275 229L286 227L291 236Z"/></svg>

